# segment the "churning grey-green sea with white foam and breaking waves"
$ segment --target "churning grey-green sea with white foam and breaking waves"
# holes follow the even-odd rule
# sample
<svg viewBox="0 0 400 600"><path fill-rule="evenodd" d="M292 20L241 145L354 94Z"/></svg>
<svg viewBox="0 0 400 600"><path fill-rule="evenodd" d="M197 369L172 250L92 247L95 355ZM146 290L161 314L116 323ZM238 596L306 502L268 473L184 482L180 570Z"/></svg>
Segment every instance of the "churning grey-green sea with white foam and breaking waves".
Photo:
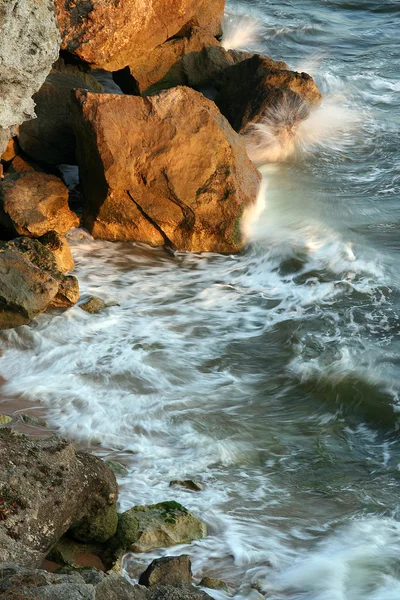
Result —
<svg viewBox="0 0 400 600"><path fill-rule="evenodd" d="M400 598L400 3L229 2L227 46L310 73L322 107L261 167L237 256L70 235L76 306L0 334L1 412L128 468L120 507L208 525L236 598ZM22 407L22 408L21 408ZM204 483L202 492L169 487ZM217 600L224 592L212 592Z"/></svg>

